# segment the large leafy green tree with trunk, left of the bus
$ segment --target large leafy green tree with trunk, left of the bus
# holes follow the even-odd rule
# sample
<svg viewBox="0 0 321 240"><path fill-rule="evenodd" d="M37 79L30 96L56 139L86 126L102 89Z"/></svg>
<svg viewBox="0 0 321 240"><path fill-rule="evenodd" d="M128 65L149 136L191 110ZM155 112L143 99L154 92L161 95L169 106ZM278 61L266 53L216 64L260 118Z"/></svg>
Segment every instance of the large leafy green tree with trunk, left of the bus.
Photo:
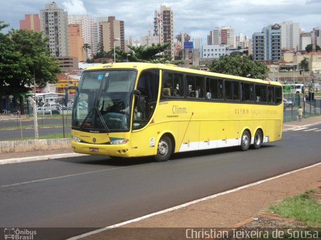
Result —
<svg viewBox="0 0 321 240"><path fill-rule="evenodd" d="M10 51L12 55L20 55L20 64L16 64L15 69L7 72L9 76L6 81L6 88L11 94L19 96L21 112L24 113L23 95L31 90L30 86L36 82L38 86L45 86L49 83L58 81L57 74L61 72L60 62L50 56L46 48L47 39L42 38L42 32L36 32L26 29L11 29L7 38L11 41ZM7 41L9 41L7 39ZM19 71L21 74L13 72ZM0 75L2 72L0 70Z"/></svg>

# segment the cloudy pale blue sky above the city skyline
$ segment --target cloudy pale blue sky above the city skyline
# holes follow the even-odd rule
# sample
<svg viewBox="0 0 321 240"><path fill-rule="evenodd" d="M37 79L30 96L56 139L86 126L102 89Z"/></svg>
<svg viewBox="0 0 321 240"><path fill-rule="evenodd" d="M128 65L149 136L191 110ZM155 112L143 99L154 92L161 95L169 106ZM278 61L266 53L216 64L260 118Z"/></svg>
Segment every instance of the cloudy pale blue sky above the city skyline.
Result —
<svg viewBox="0 0 321 240"><path fill-rule="evenodd" d="M154 11L161 5L174 12L174 36L185 31L191 38L201 37L203 43L215 27L231 26L234 35L261 32L269 24L292 21L309 32L321 25L321 0L53 0L68 15L89 17L115 16L125 24L125 39L140 40L153 30ZM25 14L39 13L48 0L0 0L0 20L10 24L2 30L19 28Z"/></svg>

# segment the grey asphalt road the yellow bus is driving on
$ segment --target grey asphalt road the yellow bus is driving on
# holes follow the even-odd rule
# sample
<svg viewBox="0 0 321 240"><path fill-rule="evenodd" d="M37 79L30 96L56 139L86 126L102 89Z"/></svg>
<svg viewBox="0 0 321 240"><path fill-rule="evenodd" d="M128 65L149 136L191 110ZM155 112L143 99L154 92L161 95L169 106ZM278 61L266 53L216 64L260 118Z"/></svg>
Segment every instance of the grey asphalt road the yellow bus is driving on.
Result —
<svg viewBox="0 0 321 240"><path fill-rule="evenodd" d="M286 131L258 150L185 152L167 162L81 156L2 165L0 227L119 223L319 162L320 135ZM86 230L75 228L58 239Z"/></svg>

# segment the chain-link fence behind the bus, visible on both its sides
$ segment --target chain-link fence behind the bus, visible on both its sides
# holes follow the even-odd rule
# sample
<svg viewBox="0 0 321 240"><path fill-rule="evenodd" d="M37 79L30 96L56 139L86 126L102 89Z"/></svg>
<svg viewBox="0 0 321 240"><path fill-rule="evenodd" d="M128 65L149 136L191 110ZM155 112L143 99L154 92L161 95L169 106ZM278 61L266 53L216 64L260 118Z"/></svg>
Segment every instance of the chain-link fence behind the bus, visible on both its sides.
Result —
<svg viewBox="0 0 321 240"><path fill-rule="evenodd" d="M299 94L284 93L290 103L284 101L283 121L297 119L297 109L303 108L303 117L321 114L321 100L305 98ZM39 108L39 107L38 107ZM27 110L27 109L26 109ZM33 112L33 109L29 109ZM59 112L44 112L37 109L38 113L38 135L39 139L70 138L71 134L71 109L60 110ZM43 111L43 112L41 112ZM36 139L34 115L24 114L0 114L0 141Z"/></svg>

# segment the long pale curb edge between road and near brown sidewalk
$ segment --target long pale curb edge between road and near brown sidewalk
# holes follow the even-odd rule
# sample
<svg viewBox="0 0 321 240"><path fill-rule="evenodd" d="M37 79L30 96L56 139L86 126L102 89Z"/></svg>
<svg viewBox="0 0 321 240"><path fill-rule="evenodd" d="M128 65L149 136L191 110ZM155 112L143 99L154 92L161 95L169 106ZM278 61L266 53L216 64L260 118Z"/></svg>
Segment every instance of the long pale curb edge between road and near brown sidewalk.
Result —
<svg viewBox="0 0 321 240"><path fill-rule="evenodd" d="M78 239L81 239L83 237L86 237L86 236L89 236L89 235L93 235L93 234L96 234L96 233L99 233L99 232L102 232L102 231L105 231L105 230L108 230L108 229L119 227L119 226L122 226L122 225L125 225L125 224L129 224L129 223L132 223L132 222L135 222L135 221L140 221L140 220L143 220L145 218L148 218L148 217L151 217L151 216L155 216L155 215L159 215L159 214L163 214L163 213L166 213L166 212L169 212L169 211L177 210L177 209L180 209L180 208L183 208L183 207L195 204L195 203L199 203L199 202L202 202L202 201L205 201L205 200L209 200L209 199L221 196L221 195L225 195L225 194L228 194L228 193L231 193L231 192L235 192L235 191L238 191L238 190L250 187L250 186L255 186L255 185L261 184L263 182L270 181L270 180L273 180L273 179L276 179L276 178L280 178L282 176L286 176L286 175L289 175L291 173L294 173L294 172L297 172L297 171L300 171L300 170L305 170L305 169L308 169L308 168L311 168L311 167L314 167L314 166L317 166L317 165L320 165L320 164L321 164L321 162L318 162L318 163L315 163L315 164L310 165L310 166L305 166L305 167L302 167L302 168L299 168L299 169L296 169L296 170L293 170L293 171L285 172L285 173L282 173L280 175L269 177L269 178L266 178L264 180L253 182L253 183L250 183L250 184L247 184L247 185L244 185L244 186L240 186L240 187L228 190L228 191L220 192L220 193L217 193L217 194L214 194L214 195L211 195L211 196L207 196L207 197L203 197L203 198L196 199L196 200L193 200L193 201L189 201L189 202L181 204L181 205L173 206L173 207L170 207L170 208L167 208L167 209L164 209L164 210L161 210L161 211L153 212L153 213L150 213L150 214L147 214L147 215L144 215L144 216L141 216L141 217L137 217L137 218L134 218L134 219L131 219L131 220L128 220L128 221L123 221L123 222L120 222L120 223L117 223L117 224L114 224L114 225L106 226L106 227L103 227L103 228L100 228L100 229L97 229L97 230L94 230L94 231L83 233L83 234L78 235L78 236L73 236L71 238L68 238L67 240L78 240Z"/></svg>

